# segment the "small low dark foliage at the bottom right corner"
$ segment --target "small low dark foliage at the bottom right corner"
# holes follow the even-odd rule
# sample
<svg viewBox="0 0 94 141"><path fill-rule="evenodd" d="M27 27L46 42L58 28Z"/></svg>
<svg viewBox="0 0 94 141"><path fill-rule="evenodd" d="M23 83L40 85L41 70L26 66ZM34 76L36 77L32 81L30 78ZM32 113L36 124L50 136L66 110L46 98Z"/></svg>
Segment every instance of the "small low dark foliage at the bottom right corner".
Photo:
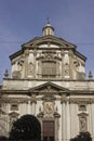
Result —
<svg viewBox="0 0 94 141"><path fill-rule="evenodd" d="M77 137L70 139L70 141L92 141L90 132L80 132Z"/></svg>

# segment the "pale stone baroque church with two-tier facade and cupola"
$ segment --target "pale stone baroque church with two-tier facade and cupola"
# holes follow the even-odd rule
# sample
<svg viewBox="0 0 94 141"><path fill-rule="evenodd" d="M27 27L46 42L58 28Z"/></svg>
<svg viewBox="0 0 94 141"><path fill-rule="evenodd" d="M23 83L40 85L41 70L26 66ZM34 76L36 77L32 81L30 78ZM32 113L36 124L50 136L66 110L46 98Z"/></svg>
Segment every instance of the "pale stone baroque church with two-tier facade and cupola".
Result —
<svg viewBox="0 0 94 141"><path fill-rule="evenodd" d="M54 36L48 22L42 36L10 55L0 86L0 136L9 136L13 121L35 115L41 140L69 141L79 132L94 136L94 80L85 75L86 57L77 46Z"/></svg>

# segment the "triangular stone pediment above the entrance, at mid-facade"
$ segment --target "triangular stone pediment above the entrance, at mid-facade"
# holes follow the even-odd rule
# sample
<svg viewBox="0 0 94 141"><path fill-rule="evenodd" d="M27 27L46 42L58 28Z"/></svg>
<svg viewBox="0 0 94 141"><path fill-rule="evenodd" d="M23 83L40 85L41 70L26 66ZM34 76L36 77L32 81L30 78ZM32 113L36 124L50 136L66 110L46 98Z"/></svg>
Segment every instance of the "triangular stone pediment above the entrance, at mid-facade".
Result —
<svg viewBox="0 0 94 141"><path fill-rule="evenodd" d="M68 93L69 90L51 81L29 89L30 93Z"/></svg>

